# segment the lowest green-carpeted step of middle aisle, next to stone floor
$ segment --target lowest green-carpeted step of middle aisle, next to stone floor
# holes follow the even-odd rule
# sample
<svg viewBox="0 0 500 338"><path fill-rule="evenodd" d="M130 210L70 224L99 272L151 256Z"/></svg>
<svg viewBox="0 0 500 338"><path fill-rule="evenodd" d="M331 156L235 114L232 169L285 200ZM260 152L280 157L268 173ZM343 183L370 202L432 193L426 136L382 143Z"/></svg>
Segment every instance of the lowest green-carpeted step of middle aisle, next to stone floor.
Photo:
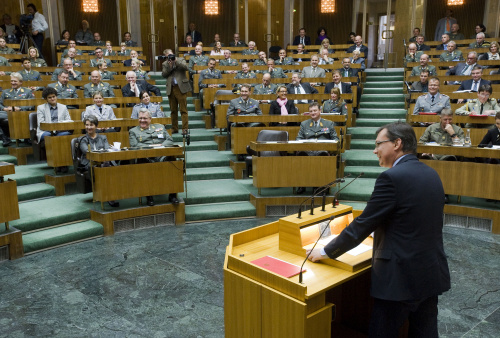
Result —
<svg viewBox="0 0 500 338"><path fill-rule="evenodd" d="M255 215L255 207L250 202L186 205L186 222L221 218L254 217Z"/></svg>

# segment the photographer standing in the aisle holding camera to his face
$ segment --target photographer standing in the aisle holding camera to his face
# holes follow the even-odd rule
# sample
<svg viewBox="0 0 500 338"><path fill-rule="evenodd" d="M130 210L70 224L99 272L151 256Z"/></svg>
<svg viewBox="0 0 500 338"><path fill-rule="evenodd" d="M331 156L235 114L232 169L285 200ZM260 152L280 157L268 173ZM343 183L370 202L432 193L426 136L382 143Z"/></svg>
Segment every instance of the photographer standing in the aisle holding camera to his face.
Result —
<svg viewBox="0 0 500 338"><path fill-rule="evenodd" d="M188 126L187 93L191 91L191 84L186 76L189 71L182 58L176 58L171 49L165 51L167 61L163 62L161 75L167 79L167 95L170 103L170 117L172 118L172 133L179 132L177 112L180 110L182 119L182 133L186 133Z"/></svg>

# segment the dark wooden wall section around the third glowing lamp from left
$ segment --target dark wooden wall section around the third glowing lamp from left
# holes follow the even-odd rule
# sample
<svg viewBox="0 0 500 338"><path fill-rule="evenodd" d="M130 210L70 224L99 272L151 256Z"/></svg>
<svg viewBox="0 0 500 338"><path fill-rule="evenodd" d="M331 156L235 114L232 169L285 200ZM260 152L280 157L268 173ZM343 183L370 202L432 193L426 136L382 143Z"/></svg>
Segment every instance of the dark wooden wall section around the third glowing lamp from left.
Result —
<svg viewBox="0 0 500 338"><path fill-rule="evenodd" d="M304 3L304 27L314 43L319 27L325 27L332 44L345 44L349 39L352 25L353 1L336 1L335 13L321 14L321 0L308 0ZM298 9L298 6L296 6ZM295 25L294 25L295 27ZM361 32L357 32L361 34ZM295 30L294 36L298 34Z"/></svg>

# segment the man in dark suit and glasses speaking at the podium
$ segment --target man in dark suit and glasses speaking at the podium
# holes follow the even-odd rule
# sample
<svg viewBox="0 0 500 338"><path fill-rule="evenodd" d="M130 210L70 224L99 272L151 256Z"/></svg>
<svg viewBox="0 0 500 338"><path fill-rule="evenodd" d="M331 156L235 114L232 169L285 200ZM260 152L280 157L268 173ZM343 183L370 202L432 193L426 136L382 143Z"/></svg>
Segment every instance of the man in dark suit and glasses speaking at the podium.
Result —
<svg viewBox="0 0 500 338"><path fill-rule="evenodd" d="M450 289L443 248L444 189L436 171L417 159L412 127L395 122L377 130L381 173L363 213L309 259L335 259L372 232L371 337L438 337L438 295Z"/></svg>

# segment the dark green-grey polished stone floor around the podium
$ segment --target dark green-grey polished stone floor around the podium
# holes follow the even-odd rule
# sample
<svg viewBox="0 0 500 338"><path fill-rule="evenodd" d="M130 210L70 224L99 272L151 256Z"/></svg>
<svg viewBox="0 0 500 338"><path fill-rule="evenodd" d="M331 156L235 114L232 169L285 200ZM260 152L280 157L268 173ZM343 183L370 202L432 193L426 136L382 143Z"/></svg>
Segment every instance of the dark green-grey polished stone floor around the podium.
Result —
<svg viewBox="0 0 500 338"><path fill-rule="evenodd" d="M229 234L272 219L120 233L0 264L1 337L223 337ZM500 236L445 228L441 337L498 337Z"/></svg>

